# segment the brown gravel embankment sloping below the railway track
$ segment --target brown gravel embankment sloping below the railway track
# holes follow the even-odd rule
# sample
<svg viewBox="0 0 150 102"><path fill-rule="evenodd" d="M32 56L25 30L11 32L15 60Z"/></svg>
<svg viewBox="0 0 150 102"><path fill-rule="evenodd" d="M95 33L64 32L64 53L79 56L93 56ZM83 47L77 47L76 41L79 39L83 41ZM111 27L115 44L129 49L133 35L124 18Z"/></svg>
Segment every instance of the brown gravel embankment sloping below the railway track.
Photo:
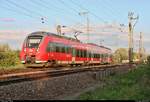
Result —
<svg viewBox="0 0 150 102"><path fill-rule="evenodd" d="M105 68L105 70L78 72L59 77L43 77L33 81L2 85L0 86L0 99L65 99L89 87L103 86L105 84L104 79L108 76L120 75L132 70L127 65L117 66L115 68Z"/></svg>

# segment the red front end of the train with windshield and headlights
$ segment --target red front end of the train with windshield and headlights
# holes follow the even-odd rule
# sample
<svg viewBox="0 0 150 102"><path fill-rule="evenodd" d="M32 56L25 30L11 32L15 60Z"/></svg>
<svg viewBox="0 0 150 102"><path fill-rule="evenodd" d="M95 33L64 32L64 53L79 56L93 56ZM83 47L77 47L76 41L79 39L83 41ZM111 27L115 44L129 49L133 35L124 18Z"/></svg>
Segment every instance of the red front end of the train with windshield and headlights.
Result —
<svg viewBox="0 0 150 102"><path fill-rule="evenodd" d="M34 66L41 63L40 60L38 60L38 57L41 53L39 50L43 38L44 36L38 34L30 34L26 37L20 52L20 60L22 64Z"/></svg>

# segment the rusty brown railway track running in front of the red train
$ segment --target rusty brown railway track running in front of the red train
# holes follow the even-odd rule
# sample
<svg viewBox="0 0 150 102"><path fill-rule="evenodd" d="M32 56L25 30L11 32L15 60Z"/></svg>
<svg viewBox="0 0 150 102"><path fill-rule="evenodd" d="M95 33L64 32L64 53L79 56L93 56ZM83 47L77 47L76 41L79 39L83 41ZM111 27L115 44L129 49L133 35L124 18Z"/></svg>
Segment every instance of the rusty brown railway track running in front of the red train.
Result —
<svg viewBox="0 0 150 102"><path fill-rule="evenodd" d="M13 83L19 83L23 81L33 81L38 80L42 78L53 78L53 77L59 77L63 75L69 75L73 73L81 73L85 71L105 71L105 70L117 70L122 66L127 66L129 68L128 64L117 64L117 65L98 65L98 66L83 66L74 67L74 68L62 68L61 70L39 70L39 71L32 71L32 72L24 72L24 73L13 73L13 74L7 74L7 75L1 75L0 76L0 86L3 85L9 85Z"/></svg>

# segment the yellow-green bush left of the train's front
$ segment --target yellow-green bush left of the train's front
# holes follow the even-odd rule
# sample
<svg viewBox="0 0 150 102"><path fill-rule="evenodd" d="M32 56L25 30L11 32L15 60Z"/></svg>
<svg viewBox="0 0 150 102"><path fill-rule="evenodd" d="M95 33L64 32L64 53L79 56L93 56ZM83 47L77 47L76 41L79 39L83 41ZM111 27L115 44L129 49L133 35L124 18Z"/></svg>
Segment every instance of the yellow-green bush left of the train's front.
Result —
<svg viewBox="0 0 150 102"><path fill-rule="evenodd" d="M0 52L0 66L8 67L19 64L19 53L17 51Z"/></svg>

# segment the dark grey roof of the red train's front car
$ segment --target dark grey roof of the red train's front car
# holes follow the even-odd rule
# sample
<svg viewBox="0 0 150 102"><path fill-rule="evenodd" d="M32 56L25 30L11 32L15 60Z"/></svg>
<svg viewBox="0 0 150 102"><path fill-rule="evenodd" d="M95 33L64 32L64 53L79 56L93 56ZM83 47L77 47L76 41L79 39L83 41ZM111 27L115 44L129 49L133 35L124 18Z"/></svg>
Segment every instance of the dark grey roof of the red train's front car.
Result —
<svg viewBox="0 0 150 102"><path fill-rule="evenodd" d="M51 33L51 32L44 32L44 31L38 31L38 32L33 32L31 34L29 34L30 36L31 35L40 35L40 36L55 36L55 37L58 37L58 38L64 38L64 39L67 39L67 40L72 40L72 41L76 41L76 42L80 42L82 43L80 40L77 40L77 39L74 39L74 38L70 38L70 37L66 37L66 36L60 36L60 35L57 35L55 33Z"/></svg>

